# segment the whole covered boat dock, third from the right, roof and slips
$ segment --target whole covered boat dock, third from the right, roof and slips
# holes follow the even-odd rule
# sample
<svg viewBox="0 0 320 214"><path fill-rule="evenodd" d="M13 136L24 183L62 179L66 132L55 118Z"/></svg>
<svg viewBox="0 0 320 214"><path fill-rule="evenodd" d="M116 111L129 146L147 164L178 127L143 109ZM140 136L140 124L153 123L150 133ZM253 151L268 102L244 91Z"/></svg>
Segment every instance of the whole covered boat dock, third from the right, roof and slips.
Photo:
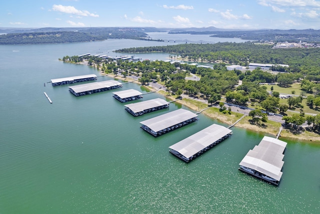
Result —
<svg viewBox="0 0 320 214"><path fill-rule="evenodd" d="M140 122L142 124L140 127L156 137L192 123L197 119L196 114L185 109L177 109L175 111L144 120Z"/></svg>

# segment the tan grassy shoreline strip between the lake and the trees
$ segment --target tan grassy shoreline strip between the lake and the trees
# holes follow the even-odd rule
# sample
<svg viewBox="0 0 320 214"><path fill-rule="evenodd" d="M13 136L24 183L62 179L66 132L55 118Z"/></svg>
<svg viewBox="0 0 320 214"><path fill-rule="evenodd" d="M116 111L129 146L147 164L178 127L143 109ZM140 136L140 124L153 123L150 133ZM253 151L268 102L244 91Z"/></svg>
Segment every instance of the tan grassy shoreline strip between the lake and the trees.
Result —
<svg viewBox="0 0 320 214"><path fill-rule="evenodd" d="M137 79L134 79L134 78L131 78L131 77L122 77L122 76L118 76L118 75L114 75L112 73L110 74L105 74L104 72L101 72L99 70L100 74L103 75L103 76L109 76L109 77L112 77L114 79L119 79L119 80L123 80L123 81L128 81L130 82L131 80L135 80L137 84L140 84L140 82L138 82ZM152 86L144 86L146 88L148 88L149 90L153 91L153 90L157 90L156 88L152 87ZM162 92L162 93L161 93ZM165 92L163 89L157 91L156 93L160 93L164 96ZM170 100L175 100L174 97L172 96L166 96L168 99ZM201 102L197 99L193 99L193 98L190 98L188 97L187 99L190 99L190 100L194 100L195 102ZM194 111L197 111L199 110L198 109L198 106L195 106L193 105L192 103L188 102L187 99L182 99L182 100L177 100L176 102L179 103L179 104L182 104L182 105L185 105L186 107L194 110ZM212 106L212 108L214 108L214 106ZM217 107L218 108L218 107ZM210 108L209 108L210 109ZM211 119L215 119L215 120L218 120L219 122L221 123L224 123L224 124L227 124L227 125L231 125L233 123L233 120L230 121L230 118L229 117L226 117L224 116L223 114L218 114L218 113L214 113L213 111L208 111L208 110L204 110L202 112L202 114L204 114L205 116L211 118ZM239 115L238 115L239 114ZM243 114L240 114L240 113L237 113L237 112L231 112L231 115L233 115L233 119L234 120L237 120L240 116L242 116ZM247 119L247 115L244 117L244 119ZM273 123L274 121L272 121ZM235 124L235 127L237 128L241 128L241 129L244 129L244 130L250 130L250 131L253 131L253 132L257 132L257 133L262 133L262 134L267 134L267 135L273 135L274 137L276 137L278 131L279 131L279 128L281 127L281 123L279 122L274 122L274 126L272 127L268 127L268 128L260 128L256 125L251 125L249 123L243 123L243 121L239 121L237 124ZM268 124L270 125L270 124ZM298 143L307 143L307 144L317 144L319 145L320 144L320 135L317 135L315 133L312 133L312 132L307 132L307 131L304 131L303 133L301 134L297 134L297 135L293 135L291 134L290 132L288 132L286 129L283 129L281 131L281 134L279 136L279 140L282 139L289 139L291 141L296 141L298 140ZM312 138L312 140L310 139ZM305 139L309 139L309 140L305 140Z"/></svg>

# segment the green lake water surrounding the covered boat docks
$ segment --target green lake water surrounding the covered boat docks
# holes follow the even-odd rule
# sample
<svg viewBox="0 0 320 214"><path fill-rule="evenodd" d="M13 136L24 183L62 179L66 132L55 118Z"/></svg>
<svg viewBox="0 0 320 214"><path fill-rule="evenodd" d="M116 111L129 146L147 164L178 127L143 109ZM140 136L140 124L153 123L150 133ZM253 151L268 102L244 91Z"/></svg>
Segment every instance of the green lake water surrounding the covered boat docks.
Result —
<svg viewBox="0 0 320 214"><path fill-rule="evenodd" d="M234 127L231 137L184 163L168 152L170 145L213 123L227 125L200 114L198 121L154 138L140 121L187 107L171 103L169 109L133 117L112 92L146 92L138 84L75 97L69 85L47 83L99 76L58 58L115 56L111 50L132 44L163 45L112 40L0 47L0 213L319 213L319 145L281 139L288 143L283 175L273 186L238 170L261 134ZM152 93L142 100L157 97L165 99Z"/></svg>

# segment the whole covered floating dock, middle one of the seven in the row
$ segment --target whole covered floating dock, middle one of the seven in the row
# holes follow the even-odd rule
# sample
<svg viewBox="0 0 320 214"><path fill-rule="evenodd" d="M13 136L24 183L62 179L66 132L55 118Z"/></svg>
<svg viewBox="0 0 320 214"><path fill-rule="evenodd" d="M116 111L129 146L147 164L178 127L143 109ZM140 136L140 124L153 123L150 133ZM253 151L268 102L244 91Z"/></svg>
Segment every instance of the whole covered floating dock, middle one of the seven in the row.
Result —
<svg viewBox="0 0 320 214"><path fill-rule="evenodd" d="M128 105L124 105L130 114L133 116L143 115L148 112L157 111L163 108L168 108L169 103L163 99L156 98L152 100L146 100L139 103L132 103Z"/></svg>

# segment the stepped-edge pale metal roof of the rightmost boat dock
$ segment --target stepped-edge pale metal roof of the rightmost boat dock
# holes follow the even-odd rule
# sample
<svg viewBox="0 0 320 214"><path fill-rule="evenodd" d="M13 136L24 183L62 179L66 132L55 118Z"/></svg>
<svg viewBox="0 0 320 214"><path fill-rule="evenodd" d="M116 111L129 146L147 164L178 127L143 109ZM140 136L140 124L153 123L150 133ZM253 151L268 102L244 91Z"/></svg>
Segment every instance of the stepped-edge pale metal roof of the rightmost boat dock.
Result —
<svg viewBox="0 0 320 214"><path fill-rule="evenodd" d="M280 181L286 142L264 136L259 145L248 151L239 165L254 169Z"/></svg>

